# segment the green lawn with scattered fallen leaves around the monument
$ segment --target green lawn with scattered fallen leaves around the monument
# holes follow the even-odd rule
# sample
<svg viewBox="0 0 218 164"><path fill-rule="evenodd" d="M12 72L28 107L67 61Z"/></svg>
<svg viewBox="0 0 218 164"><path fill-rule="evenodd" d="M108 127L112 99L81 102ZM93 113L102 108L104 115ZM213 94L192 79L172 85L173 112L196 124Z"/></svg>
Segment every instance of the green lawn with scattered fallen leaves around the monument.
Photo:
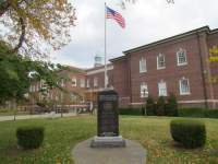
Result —
<svg viewBox="0 0 218 164"><path fill-rule="evenodd" d="M120 119L124 138L142 143L148 153L147 163L157 164L215 164L218 163L218 119L203 119L207 127L207 144L204 149L184 150L173 145L167 117L131 117ZM41 125L46 128L43 148L22 151L16 147L15 129L23 125ZM72 148L96 134L95 117L35 119L0 122L0 163L53 164L73 163Z"/></svg>

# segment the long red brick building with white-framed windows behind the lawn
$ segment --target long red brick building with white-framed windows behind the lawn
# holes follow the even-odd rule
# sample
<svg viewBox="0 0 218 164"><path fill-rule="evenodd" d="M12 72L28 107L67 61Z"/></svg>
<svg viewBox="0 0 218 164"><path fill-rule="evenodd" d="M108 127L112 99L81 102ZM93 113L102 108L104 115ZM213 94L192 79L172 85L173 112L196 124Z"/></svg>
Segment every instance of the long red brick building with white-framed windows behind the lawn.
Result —
<svg viewBox="0 0 218 164"><path fill-rule="evenodd" d="M157 98L173 93L181 106L217 108L218 84L208 82L218 74L218 62L208 62L209 49L215 46L218 30L204 26L126 50L107 66L108 87L118 92L120 106L141 106L148 95ZM105 68L95 66L63 73L71 79L62 82L70 96L51 93L61 95L64 104L72 104L74 95L81 97L76 103L96 102L105 85Z"/></svg>

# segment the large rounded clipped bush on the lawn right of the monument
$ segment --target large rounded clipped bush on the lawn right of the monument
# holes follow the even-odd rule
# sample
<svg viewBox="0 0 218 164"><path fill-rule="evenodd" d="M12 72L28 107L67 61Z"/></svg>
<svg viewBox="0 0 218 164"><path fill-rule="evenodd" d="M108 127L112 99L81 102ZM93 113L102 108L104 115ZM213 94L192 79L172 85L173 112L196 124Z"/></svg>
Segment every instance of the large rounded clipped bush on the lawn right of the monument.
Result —
<svg viewBox="0 0 218 164"><path fill-rule="evenodd" d="M206 142L206 128L202 121L175 119L170 124L170 131L173 140L184 148L199 148Z"/></svg>

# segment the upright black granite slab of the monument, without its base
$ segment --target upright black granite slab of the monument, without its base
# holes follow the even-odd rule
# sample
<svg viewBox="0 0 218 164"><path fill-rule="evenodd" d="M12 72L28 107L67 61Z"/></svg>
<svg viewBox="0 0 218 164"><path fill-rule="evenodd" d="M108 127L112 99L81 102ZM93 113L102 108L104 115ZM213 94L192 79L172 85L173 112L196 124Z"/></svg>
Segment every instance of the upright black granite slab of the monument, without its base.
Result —
<svg viewBox="0 0 218 164"><path fill-rule="evenodd" d="M118 94L102 91L98 95L98 137L119 136Z"/></svg>

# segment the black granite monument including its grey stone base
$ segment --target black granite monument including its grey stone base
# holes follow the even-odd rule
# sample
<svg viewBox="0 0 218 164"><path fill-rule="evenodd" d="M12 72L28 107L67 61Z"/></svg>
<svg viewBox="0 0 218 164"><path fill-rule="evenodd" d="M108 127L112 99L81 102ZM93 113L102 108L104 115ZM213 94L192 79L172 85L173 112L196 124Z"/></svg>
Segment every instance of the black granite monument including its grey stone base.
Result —
<svg viewBox="0 0 218 164"><path fill-rule="evenodd" d="M90 143L92 148L125 147L119 136L118 94L106 90L98 94L97 136Z"/></svg>

